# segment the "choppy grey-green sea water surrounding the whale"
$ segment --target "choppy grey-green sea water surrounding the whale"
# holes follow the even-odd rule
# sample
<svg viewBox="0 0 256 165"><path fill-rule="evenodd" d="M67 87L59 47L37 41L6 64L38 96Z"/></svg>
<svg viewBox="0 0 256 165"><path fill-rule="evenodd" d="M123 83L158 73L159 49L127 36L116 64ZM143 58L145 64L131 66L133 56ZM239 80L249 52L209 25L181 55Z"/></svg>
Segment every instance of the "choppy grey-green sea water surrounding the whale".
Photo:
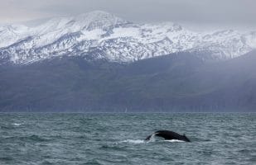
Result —
<svg viewBox="0 0 256 165"><path fill-rule="evenodd" d="M191 139L143 139L172 130ZM256 114L0 114L0 164L256 164Z"/></svg>

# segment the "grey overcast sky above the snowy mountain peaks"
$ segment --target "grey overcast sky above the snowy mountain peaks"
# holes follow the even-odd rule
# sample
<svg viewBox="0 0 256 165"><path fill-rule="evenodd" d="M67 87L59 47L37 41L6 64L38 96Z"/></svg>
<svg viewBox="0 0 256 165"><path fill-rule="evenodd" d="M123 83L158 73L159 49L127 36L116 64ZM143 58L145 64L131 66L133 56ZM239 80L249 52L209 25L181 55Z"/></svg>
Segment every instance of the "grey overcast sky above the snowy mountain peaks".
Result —
<svg viewBox="0 0 256 165"><path fill-rule="evenodd" d="M0 24L94 10L134 22L256 27L256 0L0 0Z"/></svg>

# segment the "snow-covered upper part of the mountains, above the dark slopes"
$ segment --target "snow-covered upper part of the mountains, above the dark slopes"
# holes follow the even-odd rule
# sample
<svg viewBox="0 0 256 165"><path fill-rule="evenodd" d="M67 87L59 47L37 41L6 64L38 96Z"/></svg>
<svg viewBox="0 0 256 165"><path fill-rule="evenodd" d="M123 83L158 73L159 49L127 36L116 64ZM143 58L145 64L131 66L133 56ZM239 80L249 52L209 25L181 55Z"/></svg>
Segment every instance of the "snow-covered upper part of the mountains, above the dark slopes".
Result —
<svg viewBox="0 0 256 165"><path fill-rule="evenodd" d="M174 23L136 24L108 12L57 17L36 26L0 27L0 64L83 56L131 62L181 51L232 59L256 48L256 31L189 31Z"/></svg>

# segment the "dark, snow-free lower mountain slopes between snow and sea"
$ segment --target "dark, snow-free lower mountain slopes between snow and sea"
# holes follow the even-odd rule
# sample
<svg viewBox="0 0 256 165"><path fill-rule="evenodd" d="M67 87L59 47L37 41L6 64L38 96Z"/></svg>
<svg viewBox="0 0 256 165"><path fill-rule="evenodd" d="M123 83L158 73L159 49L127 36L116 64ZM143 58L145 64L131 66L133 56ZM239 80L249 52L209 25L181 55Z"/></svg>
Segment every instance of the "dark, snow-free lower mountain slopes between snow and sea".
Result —
<svg viewBox="0 0 256 165"><path fill-rule="evenodd" d="M0 68L1 111L255 111L256 53L219 63L171 54L131 64L65 57Z"/></svg>

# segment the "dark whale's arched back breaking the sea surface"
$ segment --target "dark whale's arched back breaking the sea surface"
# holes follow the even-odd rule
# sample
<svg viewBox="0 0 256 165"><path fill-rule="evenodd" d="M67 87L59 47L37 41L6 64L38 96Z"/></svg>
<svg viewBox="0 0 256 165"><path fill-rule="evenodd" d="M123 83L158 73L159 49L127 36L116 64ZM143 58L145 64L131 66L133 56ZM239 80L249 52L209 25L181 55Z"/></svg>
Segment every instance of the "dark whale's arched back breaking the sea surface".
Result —
<svg viewBox="0 0 256 165"><path fill-rule="evenodd" d="M154 134L147 136L145 140L150 140L154 135L162 137L163 139L178 139L185 142L191 142L191 140L188 139L185 134L177 134L176 132L172 132L170 130L157 130Z"/></svg>

